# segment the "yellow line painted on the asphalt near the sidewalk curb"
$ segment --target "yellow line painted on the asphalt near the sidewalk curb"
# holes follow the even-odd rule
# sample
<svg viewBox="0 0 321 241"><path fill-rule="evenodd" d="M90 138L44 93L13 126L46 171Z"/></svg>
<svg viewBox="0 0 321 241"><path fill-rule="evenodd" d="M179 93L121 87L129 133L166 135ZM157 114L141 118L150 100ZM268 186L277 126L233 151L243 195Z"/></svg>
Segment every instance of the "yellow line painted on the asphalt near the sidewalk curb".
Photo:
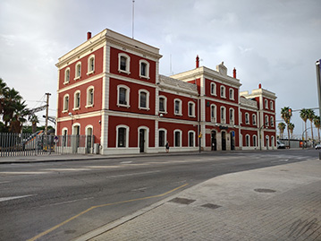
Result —
<svg viewBox="0 0 321 241"><path fill-rule="evenodd" d="M38 234L38 236L35 236L35 237L31 237L30 239L28 239L28 241L34 241L34 240L37 240L39 237L44 237L45 235L47 235L48 233L54 231L56 228L60 228L62 227L64 224L72 221L73 219L76 219L78 217L80 217L82 214L85 214L86 212L89 212L89 211L92 211L94 209L97 209L97 208L102 208L102 207L106 207L106 206L112 206L112 205L116 205L116 204L122 204L122 203L127 203L127 202L135 202L135 201L140 201L140 200L146 200L146 199L151 199L151 198L156 198L156 197L161 197L161 196L165 196L166 194L171 194L173 192L175 192L176 190L178 189L181 189L182 187L186 186L186 185L189 185L189 184L184 184L184 185L180 185L164 194L158 194L158 195L154 195L154 196L147 196L147 197L140 197L140 198L136 198L136 199L131 199L131 200L126 200L126 201L121 201L121 202L111 202L111 203L106 203L106 204L101 204L101 205L97 205L97 206L92 206L90 207L88 210L85 210L85 211L81 211L79 214L73 216L72 218L70 219L66 219L64 220L63 222L57 224L56 226L54 226L53 228L49 228L47 229L46 231Z"/></svg>

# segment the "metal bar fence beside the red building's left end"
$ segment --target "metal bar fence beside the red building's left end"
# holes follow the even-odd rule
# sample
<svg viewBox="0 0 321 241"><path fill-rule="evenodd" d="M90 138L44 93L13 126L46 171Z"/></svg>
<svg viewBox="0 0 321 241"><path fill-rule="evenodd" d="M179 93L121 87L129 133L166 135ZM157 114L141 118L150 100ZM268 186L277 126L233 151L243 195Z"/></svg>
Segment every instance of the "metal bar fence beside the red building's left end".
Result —
<svg viewBox="0 0 321 241"><path fill-rule="evenodd" d="M94 152L94 135L0 133L0 157Z"/></svg>

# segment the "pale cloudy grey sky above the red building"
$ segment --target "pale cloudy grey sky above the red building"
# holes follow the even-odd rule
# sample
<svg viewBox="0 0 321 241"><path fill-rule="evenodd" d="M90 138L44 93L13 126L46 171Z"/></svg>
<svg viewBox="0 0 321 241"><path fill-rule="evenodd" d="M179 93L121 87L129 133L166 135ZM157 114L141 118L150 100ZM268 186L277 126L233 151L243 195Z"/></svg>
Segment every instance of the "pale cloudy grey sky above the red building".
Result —
<svg viewBox="0 0 321 241"><path fill-rule="evenodd" d="M261 83L275 92L276 120L283 107L318 107L319 0L1 0L0 77L29 108L46 104L51 93L55 116L58 58L85 42L88 31L105 29L160 48L164 75L195 68L197 55L212 69L224 61L229 75L236 68L241 91ZM299 111L291 122L300 136Z"/></svg>

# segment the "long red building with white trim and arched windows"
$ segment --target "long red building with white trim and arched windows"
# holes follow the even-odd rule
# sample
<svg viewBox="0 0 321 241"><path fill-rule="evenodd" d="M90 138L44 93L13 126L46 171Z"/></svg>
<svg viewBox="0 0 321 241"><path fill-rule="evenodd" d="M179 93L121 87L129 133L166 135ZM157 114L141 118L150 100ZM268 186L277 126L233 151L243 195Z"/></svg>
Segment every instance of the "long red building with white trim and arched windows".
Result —
<svg viewBox="0 0 321 241"><path fill-rule="evenodd" d="M164 152L166 141L171 151L275 149L275 93L240 92L235 69L199 57L195 69L160 75L161 57L113 30L88 33L56 64L56 134L94 135L101 154Z"/></svg>

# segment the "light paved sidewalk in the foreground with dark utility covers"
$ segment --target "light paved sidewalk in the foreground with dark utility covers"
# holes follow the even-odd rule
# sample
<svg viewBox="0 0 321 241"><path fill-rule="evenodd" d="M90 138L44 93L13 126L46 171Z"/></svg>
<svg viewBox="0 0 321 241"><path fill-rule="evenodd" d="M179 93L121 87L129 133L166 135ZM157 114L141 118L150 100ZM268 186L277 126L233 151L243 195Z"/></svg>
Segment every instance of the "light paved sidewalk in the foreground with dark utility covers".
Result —
<svg viewBox="0 0 321 241"><path fill-rule="evenodd" d="M321 161L218 176L77 240L321 240Z"/></svg>

